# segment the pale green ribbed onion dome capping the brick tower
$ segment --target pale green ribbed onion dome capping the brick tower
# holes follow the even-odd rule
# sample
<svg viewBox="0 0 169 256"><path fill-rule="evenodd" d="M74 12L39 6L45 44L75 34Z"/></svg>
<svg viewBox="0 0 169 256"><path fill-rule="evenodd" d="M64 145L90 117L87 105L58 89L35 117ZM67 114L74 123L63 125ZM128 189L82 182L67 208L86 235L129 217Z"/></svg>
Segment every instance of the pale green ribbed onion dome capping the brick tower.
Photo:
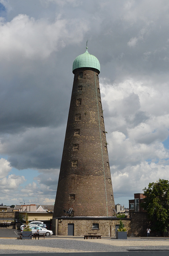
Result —
<svg viewBox="0 0 169 256"><path fill-rule="evenodd" d="M77 68L95 68L100 73L100 63L95 56L88 53L87 47L86 52L77 56L73 62L73 70Z"/></svg>

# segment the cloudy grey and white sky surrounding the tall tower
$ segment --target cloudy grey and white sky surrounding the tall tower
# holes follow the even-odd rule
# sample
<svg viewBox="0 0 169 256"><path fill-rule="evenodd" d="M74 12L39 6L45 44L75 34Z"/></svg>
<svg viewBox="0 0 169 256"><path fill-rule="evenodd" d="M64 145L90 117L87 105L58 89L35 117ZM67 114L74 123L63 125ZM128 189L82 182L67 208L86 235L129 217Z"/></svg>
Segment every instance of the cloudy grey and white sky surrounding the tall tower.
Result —
<svg viewBox="0 0 169 256"><path fill-rule="evenodd" d="M0 0L0 204L55 202L86 40L101 66L115 204L169 178L169 1Z"/></svg>

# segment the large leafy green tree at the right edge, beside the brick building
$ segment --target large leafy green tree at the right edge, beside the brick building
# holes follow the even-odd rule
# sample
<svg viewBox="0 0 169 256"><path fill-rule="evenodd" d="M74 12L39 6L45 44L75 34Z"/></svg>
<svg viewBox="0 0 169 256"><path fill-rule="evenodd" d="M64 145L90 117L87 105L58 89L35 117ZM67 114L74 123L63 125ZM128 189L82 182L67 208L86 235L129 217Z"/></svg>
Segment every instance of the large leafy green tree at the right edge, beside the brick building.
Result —
<svg viewBox="0 0 169 256"><path fill-rule="evenodd" d="M169 232L169 181L159 179L149 183L143 191L145 199L142 206L147 210L151 229L164 236Z"/></svg>

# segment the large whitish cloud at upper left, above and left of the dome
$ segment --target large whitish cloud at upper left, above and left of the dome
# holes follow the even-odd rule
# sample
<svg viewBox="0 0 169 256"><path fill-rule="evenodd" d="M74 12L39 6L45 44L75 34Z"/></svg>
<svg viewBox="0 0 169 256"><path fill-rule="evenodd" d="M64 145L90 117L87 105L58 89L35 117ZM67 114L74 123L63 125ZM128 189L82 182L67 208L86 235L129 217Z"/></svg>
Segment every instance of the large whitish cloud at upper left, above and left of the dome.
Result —
<svg viewBox="0 0 169 256"><path fill-rule="evenodd" d="M1 58L11 60L18 55L28 59L44 59L52 52L64 48L66 44L81 42L83 33L87 30L87 22L83 19L58 18L49 23L44 19L35 20L26 14L19 14L10 22L1 20Z"/></svg>

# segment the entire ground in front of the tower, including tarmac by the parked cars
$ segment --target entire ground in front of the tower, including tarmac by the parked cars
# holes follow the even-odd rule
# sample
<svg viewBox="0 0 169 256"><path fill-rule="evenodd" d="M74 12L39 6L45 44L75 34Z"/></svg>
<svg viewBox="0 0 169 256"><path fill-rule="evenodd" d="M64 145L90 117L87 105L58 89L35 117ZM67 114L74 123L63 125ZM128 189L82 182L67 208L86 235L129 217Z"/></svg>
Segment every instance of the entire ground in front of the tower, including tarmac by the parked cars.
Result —
<svg viewBox="0 0 169 256"><path fill-rule="evenodd" d="M0 255L26 256L168 256L169 238L87 239L52 236L39 240L20 240L17 230L0 229Z"/></svg>

